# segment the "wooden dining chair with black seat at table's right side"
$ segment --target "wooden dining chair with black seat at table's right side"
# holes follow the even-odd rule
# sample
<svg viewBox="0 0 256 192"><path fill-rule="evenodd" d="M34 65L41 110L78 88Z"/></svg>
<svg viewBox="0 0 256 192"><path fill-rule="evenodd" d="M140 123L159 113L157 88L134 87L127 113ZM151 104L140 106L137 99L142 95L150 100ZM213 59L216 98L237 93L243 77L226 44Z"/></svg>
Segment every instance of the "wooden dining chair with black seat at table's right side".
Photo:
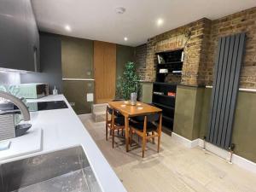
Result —
<svg viewBox="0 0 256 192"><path fill-rule="evenodd" d="M140 116L142 118L142 116ZM159 124L155 125L153 122L159 120ZM143 117L143 121L132 120L130 122L130 141L132 135L135 133L138 137L143 139L143 158L148 139L152 139L154 143L154 137L158 137L157 153L160 151L160 137L162 129L162 116L160 113L149 114Z"/></svg>

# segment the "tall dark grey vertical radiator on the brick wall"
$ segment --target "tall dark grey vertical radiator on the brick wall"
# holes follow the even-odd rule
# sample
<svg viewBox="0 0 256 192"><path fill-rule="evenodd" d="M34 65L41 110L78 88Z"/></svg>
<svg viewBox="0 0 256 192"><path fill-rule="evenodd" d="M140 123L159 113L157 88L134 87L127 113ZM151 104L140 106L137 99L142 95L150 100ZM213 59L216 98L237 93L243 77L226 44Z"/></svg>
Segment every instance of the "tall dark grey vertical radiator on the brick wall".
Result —
<svg viewBox="0 0 256 192"><path fill-rule="evenodd" d="M218 40L207 141L228 149L236 111L236 96L245 33Z"/></svg>

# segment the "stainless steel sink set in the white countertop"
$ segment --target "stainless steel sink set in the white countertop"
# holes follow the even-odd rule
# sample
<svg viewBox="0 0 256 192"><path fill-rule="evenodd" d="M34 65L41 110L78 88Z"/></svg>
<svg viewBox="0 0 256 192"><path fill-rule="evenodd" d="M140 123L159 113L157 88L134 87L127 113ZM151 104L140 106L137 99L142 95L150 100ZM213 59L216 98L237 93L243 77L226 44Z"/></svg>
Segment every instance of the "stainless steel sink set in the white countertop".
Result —
<svg viewBox="0 0 256 192"><path fill-rule="evenodd" d="M0 165L0 191L98 192L81 147L67 148Z"/></svg>

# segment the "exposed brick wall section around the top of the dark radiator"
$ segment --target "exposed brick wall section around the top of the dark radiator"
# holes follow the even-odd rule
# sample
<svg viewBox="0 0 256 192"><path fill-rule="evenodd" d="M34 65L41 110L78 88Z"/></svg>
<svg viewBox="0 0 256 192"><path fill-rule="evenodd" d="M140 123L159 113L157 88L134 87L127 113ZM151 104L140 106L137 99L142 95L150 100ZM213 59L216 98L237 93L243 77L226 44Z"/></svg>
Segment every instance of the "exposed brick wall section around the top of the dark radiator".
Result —
<svg viewBox="0 0 256 192"><path fill-rule="evenodd" d="M241 64L240 87L256 88L256 7L212 20L206 84L212 84L213 60L218 38L239 32L246 32L247 35L246 51Z"/></svg>

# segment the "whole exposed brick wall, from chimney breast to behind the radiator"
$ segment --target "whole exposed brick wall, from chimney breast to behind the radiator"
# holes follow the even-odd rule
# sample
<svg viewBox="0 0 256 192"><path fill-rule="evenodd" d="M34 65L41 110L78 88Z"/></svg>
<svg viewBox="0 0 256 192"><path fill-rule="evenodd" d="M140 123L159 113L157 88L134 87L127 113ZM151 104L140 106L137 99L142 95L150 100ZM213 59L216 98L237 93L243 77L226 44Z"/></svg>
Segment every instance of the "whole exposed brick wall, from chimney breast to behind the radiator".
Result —
<svg viewBox="0 0 256 192"><path fill-rule="evenodd" d="M218 20L203 18L178 27L169 32L149 38L147 44L137 47L142 50L137 54L137 69L143 80L154 81L156 73L157 44L163 50L184 49L183 74L181 84L203 85L212 84L213 59L217 49L218 38L230 34L246 32L246 52L241 68L241 87L256 88L256 8L225 16ZM168 40L184 35L185 44L171 44ZM161 43L163 42L163 43ZM180 47L179 47L180 45ZM145 46L147 47L145 49ZM174 48L173 48L174 46ZM143 59L140 59L143 55ZM146 55L146 58L145 58ZM177 83L178 79L167 77L168 82Z"/></svg>

